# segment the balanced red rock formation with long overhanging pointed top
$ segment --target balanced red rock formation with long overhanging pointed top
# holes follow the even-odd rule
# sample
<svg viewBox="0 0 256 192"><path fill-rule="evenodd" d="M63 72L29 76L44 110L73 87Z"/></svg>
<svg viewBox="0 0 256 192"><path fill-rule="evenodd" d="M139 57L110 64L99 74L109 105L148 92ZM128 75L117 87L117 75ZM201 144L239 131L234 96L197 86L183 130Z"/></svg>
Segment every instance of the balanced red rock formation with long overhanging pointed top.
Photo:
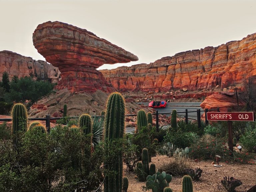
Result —
<svg viewBox="0 0 256 192"><path fill-rule="evenodd" d="M71 92L115 91L96 68L105 63L138 60L137 56L85 29L58 21L38 25L33 43L46 61L61 71L57 88L67 87Z"/></svg>

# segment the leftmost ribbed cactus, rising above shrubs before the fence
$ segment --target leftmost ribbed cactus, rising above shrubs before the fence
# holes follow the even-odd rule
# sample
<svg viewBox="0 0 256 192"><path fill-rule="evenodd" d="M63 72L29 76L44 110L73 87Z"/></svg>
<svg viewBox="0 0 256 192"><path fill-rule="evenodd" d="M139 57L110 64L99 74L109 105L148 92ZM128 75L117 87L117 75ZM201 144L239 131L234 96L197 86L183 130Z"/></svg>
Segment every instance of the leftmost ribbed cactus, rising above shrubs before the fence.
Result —
<svg viewBox="0 0 256 192"><path fill-rule="evenodd" d="M26 131L27 130L27 109L21 104L17 103L12 107L12 133L15 134L16 131ZM25 129L25 130L24 130Z"/></svg>

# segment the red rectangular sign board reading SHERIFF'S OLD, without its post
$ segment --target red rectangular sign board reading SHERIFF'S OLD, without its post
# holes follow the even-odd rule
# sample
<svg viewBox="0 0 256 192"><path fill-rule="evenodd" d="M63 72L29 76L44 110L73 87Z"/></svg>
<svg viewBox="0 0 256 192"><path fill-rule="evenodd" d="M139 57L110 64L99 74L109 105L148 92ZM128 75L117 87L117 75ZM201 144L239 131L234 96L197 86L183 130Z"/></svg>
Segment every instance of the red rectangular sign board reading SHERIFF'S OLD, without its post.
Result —
<svg viewBox="0 0 256 192"><path fill-rule="evenodd" d="M208 121L255 121L254 112L207 112Z"/></svg>

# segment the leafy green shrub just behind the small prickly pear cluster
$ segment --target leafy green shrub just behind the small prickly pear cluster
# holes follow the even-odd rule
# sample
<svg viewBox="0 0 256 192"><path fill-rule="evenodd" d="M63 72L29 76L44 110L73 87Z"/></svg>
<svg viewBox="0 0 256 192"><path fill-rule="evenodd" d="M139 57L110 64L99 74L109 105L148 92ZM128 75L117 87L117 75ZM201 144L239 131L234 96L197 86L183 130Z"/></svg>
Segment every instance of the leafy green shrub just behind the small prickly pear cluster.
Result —
<svg viewBox="0 0 256 192"><path fill-rule="evenodd" d="M173 132L173 133L167 133L164 137L164 142L170 142L179 148L185 148L191 146L193 143L195 143L199 139L198 135L193 132L185 132L185 133L179 133L179 132Z"/></svg>

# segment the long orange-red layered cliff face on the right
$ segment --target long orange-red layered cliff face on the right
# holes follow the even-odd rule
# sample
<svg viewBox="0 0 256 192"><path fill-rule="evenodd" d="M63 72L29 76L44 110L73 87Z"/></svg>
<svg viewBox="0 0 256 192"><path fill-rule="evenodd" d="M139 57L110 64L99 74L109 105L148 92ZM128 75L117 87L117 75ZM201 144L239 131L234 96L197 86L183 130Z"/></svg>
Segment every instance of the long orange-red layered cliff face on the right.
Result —
<svg viewBox="0 0 256 192"><path fill-rule="evenodd" d="M256 75L256 33L240 41L163 57L150 64L100 70L119 91L221 88Z"/></svg>

